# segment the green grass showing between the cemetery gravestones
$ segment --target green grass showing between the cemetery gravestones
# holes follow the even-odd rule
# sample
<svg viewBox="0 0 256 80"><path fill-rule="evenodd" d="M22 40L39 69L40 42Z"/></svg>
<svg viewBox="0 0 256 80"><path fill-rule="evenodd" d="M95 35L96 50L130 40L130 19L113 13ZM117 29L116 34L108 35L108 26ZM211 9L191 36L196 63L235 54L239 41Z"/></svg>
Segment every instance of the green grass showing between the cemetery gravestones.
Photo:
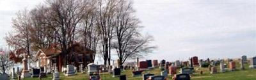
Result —
<svg viewBox="0 0 256 80"><path fill-rule="evenodd" d="M219 67L219 66L217 66ZM204 74L200 75L199 70L203 70ZM179 69L177 70L179 73ZM220 68L218 68L218 71L220 71ZM148 72L160 75L160 69L155 68L153 70L148 70ZM145 72L143 72L145 73ZM129 80L141 80L142 77L132 77L132 70L125 70L122 72L122 74L126 74L127 79ZM108 73L102 73L101 75L102 80L118 80L118 77L112 77L111 74ZM47 77L42 78L42 80L51 80L52 74L47 75ZM61 80L88 80L88 74L81 74L80 72L77 73L76 76L69 76L65 77L62 73L60 74ZM171 80L172 77L168 76ZM191 76L192 80L256 80L256 69L250 69L248 68L248 65L246 65L245 70L239 70L239 63L237 62L237 70L233 72L225 72L218 74L210 74L208 68L198 68L195 67L195 74ZM25 78L25 80L38 80L38 78Z"/></svg>

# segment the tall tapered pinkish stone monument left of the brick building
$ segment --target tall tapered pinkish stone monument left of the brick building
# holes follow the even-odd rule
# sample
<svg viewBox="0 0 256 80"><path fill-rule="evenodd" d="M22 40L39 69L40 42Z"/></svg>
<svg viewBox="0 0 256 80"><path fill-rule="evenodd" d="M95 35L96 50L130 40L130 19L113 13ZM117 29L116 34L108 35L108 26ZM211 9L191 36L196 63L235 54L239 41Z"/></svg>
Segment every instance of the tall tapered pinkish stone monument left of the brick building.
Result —
<svg viewBox="0 0 256 80"><path fill-rule="evenodd" d="M25 58L23 58L22 60L22 65L23 65L23 70L21 72L21 78L24 78L24 77L30 77L30 74L29 74L29 70L28 70L28 60Z"/></svg>

